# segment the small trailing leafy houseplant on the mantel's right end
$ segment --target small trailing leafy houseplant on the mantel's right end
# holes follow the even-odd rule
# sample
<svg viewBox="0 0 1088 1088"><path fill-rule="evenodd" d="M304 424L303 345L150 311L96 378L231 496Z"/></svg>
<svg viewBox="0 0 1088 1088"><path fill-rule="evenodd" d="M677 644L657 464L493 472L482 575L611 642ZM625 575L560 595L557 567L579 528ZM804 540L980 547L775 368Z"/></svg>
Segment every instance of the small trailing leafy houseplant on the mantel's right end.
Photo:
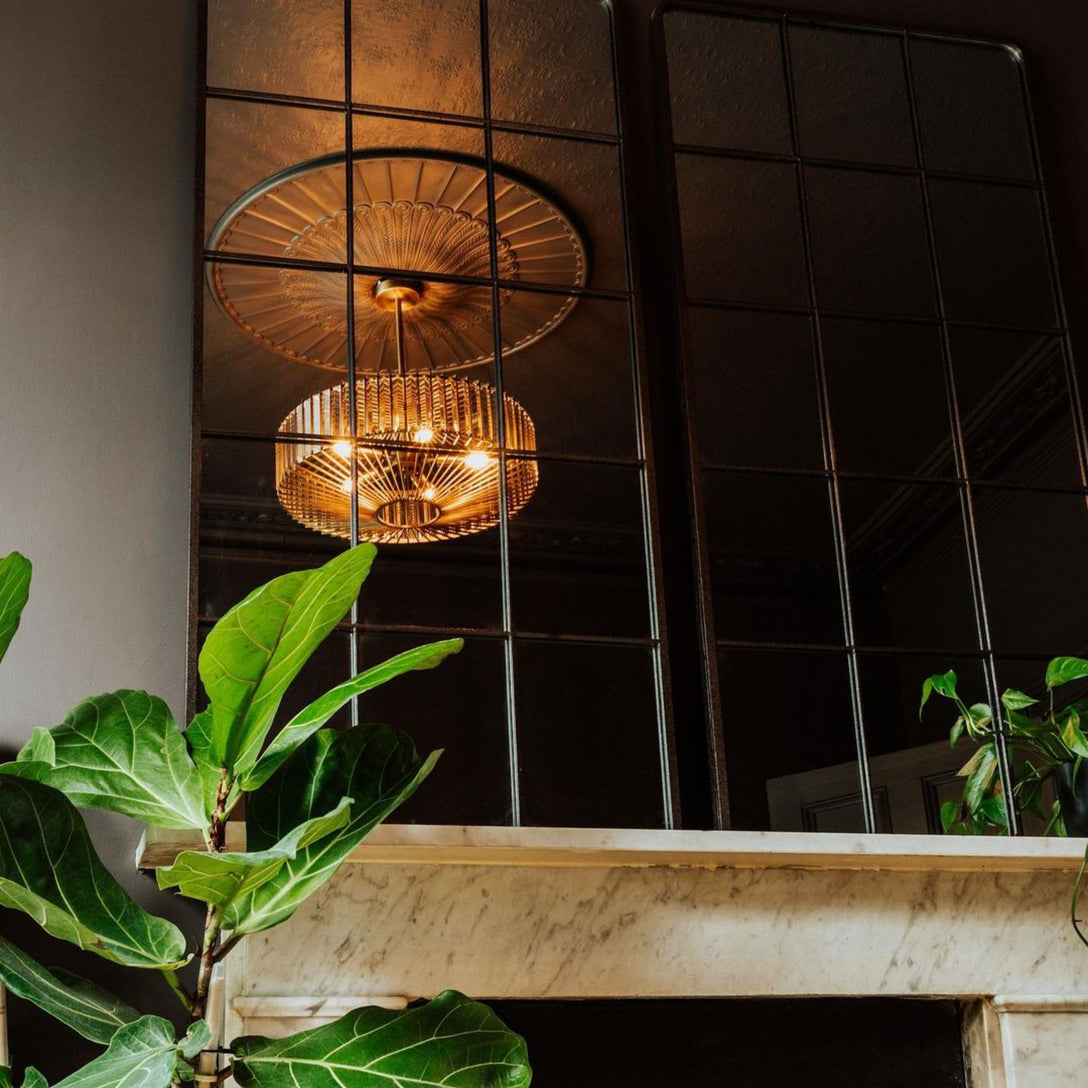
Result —
<svg viewBox="0 0 1088 1088"><path fill-rule="evenodd" d="M957 677L949 671L929 677L922 688L922 706L930 695L951 700L959 712L952 724L953 746L966 735L976 749L961 767L963 794L941 806L945 831L960 834L985 834L1007 828L1004 791L999 772L997 731L1002 730L1012 758L1014 805L1046 821L1044 834L1088 836L1088 738L1081 716L1088 700L1080 698L1062 707L1055 705L1055 691L1073 680L1088 677L1088 660L1055 657L1047 667L1046 695L1033 698L1009 689L1001 696L997 722L987 703L968 706L956 691ZM1033 709L1035 708L1035 709ZM1043 811L1042 790L1054 780L1058 798L1049 812Z"/></svg>

